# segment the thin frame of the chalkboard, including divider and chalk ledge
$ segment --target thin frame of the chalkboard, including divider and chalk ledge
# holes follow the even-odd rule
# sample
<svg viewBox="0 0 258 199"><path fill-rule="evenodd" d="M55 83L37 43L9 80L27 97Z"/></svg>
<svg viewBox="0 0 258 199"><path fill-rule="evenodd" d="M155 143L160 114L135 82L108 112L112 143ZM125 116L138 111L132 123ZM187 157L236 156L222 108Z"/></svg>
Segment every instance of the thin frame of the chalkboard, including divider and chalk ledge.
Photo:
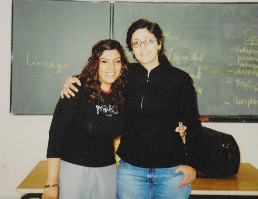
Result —
<svg viewBox="0 0 258 199"><path fill-rule="evenodd" d="M58 0L52 0L52 1L58 1ZM118 1L117 1L118 2ZM137 3L137 2L136 2ZM139 3L154 3L154 2L139 2ZM170 3L179 3L179 2L170 2ZM182 2L186 3L186 2ZM198 3L198 2L196 2ZM196 3L189 3L189 4L196 4ZM218 4L218 3L202 3L199 2L198 4ZM220 4L242 4L242 3L220 3ZM245 3L247 4L247 3ZM248 4L257 4L257 3L248 3ZM13 3L12 3L12 37L11 37L11 53L13 52ZM110 38L113 38L114 36L114 3L110 2ZM12 73L13 73L13 66L11 62L11 93L10 93L10 113L14 115L30 115L30 114L16 114L12 113ZM31 114L35 115L35 114ZM36 114L38 115L38 114ZM40 115L52 115L52 114L40 114ZM236 123L257 123L258 121L258 115L236 115L236 116L228 116L228 115L201 115L200 121L202 122L236 122Z"/></svg>

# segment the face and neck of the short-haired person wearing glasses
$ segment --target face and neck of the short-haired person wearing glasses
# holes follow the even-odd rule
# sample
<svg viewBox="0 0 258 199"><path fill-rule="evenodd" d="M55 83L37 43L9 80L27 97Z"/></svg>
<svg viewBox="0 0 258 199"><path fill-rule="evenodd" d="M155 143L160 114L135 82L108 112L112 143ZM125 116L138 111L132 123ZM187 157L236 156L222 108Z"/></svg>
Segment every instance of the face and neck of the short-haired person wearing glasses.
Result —
<svg viewBox="0 0 258 199"><path fill-rule="evenodd" d="M132 34L131 44L134 42L144 42L147 39L155 41L149 46L145 46L142 43L138 48L132 47L132 52L144 68L151 70L159 65L158 50L161 49L161 43L158 44L154 34L149 33L147 28L143 28L136 30L134 34Z"/></svg>

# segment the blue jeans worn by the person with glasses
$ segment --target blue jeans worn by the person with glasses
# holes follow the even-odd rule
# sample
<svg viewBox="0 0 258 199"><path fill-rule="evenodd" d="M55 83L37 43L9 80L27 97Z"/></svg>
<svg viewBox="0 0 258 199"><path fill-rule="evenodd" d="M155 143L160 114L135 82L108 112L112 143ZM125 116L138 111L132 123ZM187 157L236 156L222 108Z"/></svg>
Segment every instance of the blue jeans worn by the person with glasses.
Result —
<svg viewBox="0 0 258 199"><path fill-rule="evenodd" d="M130 165L120 159L117 173L118 199L187 199L191 184L178 188L184 174L176 167L148 169Z"/></svg>

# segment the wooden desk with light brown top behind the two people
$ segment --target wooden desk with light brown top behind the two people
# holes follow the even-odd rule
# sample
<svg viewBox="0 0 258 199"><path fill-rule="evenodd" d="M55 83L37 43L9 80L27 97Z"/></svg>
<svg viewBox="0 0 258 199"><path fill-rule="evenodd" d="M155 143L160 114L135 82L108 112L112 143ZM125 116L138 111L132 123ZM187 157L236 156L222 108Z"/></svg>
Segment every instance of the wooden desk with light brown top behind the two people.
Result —
<svg viewBox="0 0 258 199"><path fill-rule="evenodd" d="M46 161L40 161L17 187L22 197L36 198L43 193L47 178ZM241 163L236 176L225 179L198 178L192 184L190 198L258 198L258 170L249 163Z"/></svg>

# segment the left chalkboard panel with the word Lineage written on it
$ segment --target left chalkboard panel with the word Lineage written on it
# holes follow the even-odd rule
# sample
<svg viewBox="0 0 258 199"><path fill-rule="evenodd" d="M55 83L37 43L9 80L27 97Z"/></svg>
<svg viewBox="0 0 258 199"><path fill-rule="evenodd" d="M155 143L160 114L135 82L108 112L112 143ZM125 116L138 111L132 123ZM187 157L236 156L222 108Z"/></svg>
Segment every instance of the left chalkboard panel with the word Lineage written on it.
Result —
<svg viewBox="0 0 258 199"><path fill-rule="evenodd" d="M110 3L13 0L11 113L51 115L66 78L110 36Z"/></svg>

